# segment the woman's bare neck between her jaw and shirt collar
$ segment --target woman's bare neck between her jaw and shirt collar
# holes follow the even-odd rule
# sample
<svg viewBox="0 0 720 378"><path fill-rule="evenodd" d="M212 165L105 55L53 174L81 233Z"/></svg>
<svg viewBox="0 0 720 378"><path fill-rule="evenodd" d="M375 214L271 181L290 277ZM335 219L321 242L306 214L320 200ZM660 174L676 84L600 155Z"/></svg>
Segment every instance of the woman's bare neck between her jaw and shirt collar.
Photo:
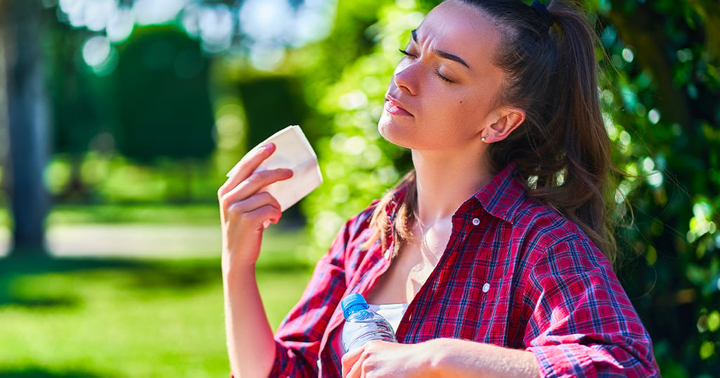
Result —
<svg viewBox="0 0 720 378"><path fill-rule="evenodd" d="M420 224L426 225L449 220L493 176L484 153L413 151L413 164L418 185L417 216Z"/></svg>

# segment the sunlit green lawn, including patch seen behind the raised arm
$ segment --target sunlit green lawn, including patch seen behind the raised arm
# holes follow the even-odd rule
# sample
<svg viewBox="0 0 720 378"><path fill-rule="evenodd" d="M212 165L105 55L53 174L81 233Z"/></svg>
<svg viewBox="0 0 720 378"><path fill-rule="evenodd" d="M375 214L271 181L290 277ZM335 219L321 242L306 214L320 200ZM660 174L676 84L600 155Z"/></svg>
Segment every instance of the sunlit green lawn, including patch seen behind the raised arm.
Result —
<svg viewBox="0 0 720 378"><path fill-rule="evenodd" d="M274 328L310 278L288 252L304 242L272 234L258 262ZM219 259L0 260L0 377L228 377Z"/></svg>

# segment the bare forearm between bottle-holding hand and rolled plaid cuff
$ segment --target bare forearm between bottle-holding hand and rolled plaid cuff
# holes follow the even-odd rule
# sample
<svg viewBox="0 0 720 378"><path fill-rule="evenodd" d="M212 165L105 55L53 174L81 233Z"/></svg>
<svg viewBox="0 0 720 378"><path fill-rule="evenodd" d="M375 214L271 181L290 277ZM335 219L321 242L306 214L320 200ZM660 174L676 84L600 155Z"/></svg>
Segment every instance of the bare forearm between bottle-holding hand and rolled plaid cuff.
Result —
<svg viewBox="0 0 720 378"><path fill-rule="evenodd" d="M437 377L537 378L538 362L533 353L467 340L441 338L433 343L432 369Z"/></svg>

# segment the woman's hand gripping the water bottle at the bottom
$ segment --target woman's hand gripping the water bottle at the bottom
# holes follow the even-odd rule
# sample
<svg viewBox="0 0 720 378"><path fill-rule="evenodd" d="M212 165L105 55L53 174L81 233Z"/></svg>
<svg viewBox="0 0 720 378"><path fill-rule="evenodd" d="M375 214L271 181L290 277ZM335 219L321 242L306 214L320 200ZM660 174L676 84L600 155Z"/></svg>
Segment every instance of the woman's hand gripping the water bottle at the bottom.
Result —
<svg viewBox="0 0 720 378"><path fill-rule="evenodd" d="M370 341L343 356L343 377L431 377L428 342L398 344Z"/></svg>

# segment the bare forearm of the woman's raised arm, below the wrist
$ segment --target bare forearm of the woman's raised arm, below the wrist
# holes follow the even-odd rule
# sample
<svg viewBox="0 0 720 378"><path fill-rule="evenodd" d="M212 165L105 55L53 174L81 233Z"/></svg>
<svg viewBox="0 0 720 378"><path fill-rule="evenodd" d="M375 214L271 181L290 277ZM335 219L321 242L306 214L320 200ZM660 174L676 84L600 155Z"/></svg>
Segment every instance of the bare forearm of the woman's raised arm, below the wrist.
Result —
<svg viewBox="0 0 720 378"><path fill-rule="evenodd" d="M275 359L275 340L265 314L255 267L223 272L225 333L235 378L265 378Z"/></svg>

